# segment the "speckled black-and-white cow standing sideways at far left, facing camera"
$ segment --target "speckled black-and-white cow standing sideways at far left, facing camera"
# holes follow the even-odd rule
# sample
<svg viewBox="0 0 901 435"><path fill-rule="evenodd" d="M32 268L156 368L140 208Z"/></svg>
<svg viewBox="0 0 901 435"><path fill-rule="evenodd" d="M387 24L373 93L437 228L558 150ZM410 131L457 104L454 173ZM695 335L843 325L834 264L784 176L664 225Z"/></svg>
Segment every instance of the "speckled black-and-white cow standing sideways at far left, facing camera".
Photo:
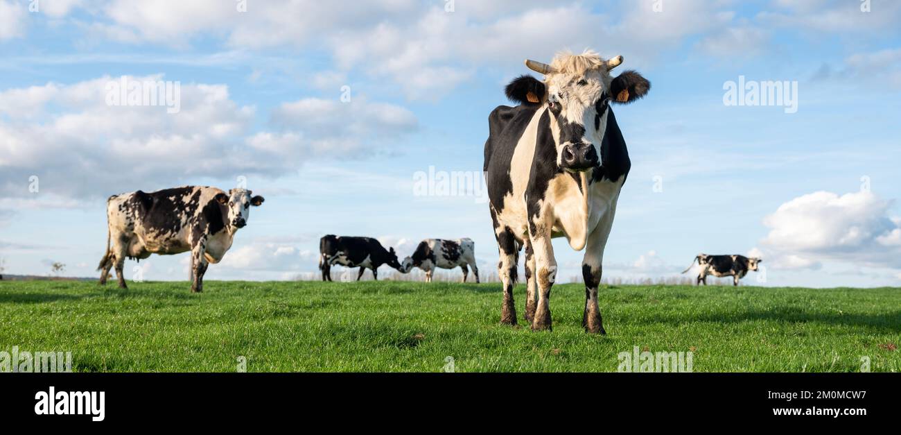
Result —
<svg viewBox="0 0 901 435"><path fill-rule="evenodd" d="M141 190L106 200L106 253L97 266L105 284L115 267L125 289L125 258L191 252L191 292L204 291L204 274L232 247L235 233L247 225L250 206L265 199L250 190L228 192L212 187L183 186L146 193Z"/></svg>

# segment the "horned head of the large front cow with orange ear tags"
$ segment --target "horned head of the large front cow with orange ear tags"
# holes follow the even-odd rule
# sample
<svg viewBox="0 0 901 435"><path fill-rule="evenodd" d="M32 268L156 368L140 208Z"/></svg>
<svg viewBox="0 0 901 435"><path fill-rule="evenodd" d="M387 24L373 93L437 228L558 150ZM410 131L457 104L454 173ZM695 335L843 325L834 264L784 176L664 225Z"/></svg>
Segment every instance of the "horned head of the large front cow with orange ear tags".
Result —
<svg viewBox="0 0 901 435"><path fill-rule="evenodd" d="M507 97L549 109L561 169L579 172L600 166L608 106L631 103L651 89L651 82L635 71L612 77L610 70L621 63L623 56L603 60L594 51L560 53L550 65L525 61L529 69L544 74L543 82L523 76L507 86Z"/></svg>

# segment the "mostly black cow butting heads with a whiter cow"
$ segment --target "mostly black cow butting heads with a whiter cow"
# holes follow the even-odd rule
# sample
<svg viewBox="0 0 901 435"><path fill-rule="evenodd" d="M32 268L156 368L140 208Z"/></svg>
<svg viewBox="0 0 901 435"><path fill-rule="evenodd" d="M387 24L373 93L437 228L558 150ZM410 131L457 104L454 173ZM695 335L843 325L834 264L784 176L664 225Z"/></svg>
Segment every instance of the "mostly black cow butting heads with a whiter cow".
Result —
<svg viewBox="0 0 901 435"><path fill-rule="evenodd" d="M382 264L401 270L394 248L385 250L371 237L323 236L319 239L319 270L323 271L323 281L332 281L332 264L359 267L357 281L366 269L372 269L372 277L378 281L378 267Z"/></svg>

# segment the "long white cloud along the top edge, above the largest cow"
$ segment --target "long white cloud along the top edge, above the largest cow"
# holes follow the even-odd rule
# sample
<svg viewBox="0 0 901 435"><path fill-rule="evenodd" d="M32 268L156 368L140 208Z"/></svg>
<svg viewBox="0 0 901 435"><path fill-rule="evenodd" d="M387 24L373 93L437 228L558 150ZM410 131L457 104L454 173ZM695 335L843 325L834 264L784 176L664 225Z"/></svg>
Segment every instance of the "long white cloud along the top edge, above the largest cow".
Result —
<svg viewBox="0 0 901 435"><path fill-rule="evenodd" d="M64 3L54 14L77 5ZM250 2L248 12L240 13L234 3L219 0L111 0L82 5L108 20L80 25L102 39L127 43L187 47L211 37L238 50L324 50L337 68L314 77L315 87L331 87L359 69L393 82L408 99L436 100L478 69L522 69L524 57L550 60L563 49L623 54L631 68L647 65L692 35L724 35L703 44L708 52L728 51L726 41L756 50L763 31L737 25L728 10L732 5L668 1L655 13L650 3L624 2L598 12L581 2L457 0L447 12L443 2L416 0L271 0Z"/></svg>

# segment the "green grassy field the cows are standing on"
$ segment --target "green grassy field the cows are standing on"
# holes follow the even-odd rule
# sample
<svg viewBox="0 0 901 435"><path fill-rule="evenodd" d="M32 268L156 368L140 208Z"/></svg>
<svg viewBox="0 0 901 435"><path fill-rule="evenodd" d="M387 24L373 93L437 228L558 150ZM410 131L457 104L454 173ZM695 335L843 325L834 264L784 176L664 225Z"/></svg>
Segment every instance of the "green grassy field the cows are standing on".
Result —
<svg viewBox="0 0 901 435"><path fill-rule="evenodd" d="M0 282L0 350L71 351L77 372L615 371L633 347L695 372L898 371L901 289L612 286L605 337L583 287L557 285L552 332L498 324L498 284ZM523 323L523 285L517 287Z"/></svg>

